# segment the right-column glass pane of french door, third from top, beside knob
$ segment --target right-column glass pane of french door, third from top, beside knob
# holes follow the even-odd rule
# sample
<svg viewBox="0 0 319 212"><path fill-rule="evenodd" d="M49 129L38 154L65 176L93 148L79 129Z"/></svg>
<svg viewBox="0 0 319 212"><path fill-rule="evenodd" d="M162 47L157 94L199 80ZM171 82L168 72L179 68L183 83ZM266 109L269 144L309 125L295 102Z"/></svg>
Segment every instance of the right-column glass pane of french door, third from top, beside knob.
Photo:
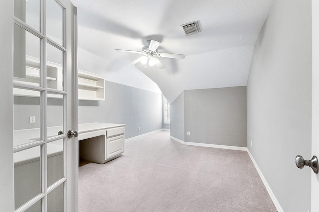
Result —
<svg viewBox="0 0 319 212"><path fill-rule="evenodd" d="M47 97L47 137L50 138L63 131L63 95L48 93Z"/></svg>

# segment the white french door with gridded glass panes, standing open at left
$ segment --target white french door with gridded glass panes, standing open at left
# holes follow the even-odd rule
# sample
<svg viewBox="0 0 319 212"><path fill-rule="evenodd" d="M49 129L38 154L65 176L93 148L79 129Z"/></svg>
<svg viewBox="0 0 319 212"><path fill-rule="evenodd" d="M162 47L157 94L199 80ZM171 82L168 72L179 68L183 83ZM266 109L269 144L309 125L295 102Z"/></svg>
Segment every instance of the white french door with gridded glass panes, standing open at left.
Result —
<svg viewBox="0 0 319 212"><path fill-rule="evenodd" d="M12 95L6 104L12 107L8 123L13 128L1 126L13 133L1 142L10 152L1 158L7 161L7 172L0 174L1 182L7 181L2 186L7 196L0 195L0 211L76 211L77 138L67 136L69 129L77 129L76 8L70 0L11 3L12 32L7 33L13 45L2 51L12 53L12 65L5 70L12 82L5 89L11 91L4 98Z"/></svg>

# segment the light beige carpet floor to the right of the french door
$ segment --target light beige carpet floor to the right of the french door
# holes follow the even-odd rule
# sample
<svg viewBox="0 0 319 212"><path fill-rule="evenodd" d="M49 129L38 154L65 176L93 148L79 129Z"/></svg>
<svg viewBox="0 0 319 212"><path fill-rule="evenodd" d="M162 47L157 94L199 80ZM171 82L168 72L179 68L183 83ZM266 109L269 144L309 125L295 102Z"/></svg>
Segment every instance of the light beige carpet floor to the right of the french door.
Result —
<svg viewBox="0 0 319 212"><path fill-rule="evenodd" d="M276 212L245 151L180 144L159 131L106 164L80 161L79 212Z"/></svg>

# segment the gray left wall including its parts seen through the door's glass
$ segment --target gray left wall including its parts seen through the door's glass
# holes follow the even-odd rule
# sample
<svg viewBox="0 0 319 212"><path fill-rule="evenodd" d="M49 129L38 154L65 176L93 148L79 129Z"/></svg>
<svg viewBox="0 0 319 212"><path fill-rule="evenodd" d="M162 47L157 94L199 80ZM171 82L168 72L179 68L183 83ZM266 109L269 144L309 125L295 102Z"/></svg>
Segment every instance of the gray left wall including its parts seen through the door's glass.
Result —
<svg viewBox="0 0 319 212"><path fill-rule="evenodd" d="M125 138L162 128L162 94L106 81L106 101L79 100L79 123L123 123ZM40 98L14 97L14 129L40 127ZM47 100L48 126L63 124L62 99ZM29 123L35 116L35 123ZM140 127L140 130L138 128Z"/></svg>

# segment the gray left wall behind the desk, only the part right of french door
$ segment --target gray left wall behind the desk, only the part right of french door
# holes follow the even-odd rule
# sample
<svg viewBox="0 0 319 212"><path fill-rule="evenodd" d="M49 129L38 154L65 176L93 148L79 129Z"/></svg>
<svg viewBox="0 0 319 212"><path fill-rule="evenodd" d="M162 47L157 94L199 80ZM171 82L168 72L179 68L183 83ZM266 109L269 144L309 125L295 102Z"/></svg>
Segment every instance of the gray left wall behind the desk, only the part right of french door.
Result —
<svg viewBox="0 0 319 212"><path fill-rule="evenodd" d="M79 101L79 123L123 123L125 138L162 128L162 94L109 81L105 86L105 101Z"/></svg>

